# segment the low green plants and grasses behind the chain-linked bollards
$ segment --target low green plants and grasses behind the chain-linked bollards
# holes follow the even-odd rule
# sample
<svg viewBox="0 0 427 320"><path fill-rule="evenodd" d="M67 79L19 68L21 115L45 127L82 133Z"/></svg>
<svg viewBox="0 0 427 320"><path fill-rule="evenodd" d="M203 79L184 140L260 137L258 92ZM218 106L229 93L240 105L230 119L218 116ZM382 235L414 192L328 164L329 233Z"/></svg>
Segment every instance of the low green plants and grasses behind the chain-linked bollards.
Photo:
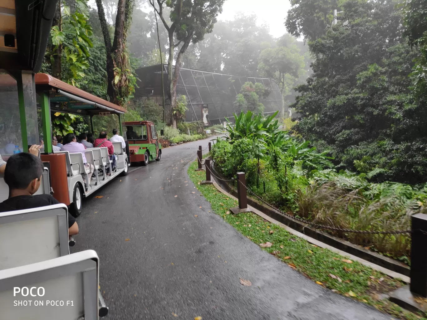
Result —
<svg viewBox="0 0 427 320"><path fill-rule="evenodd" d="M339 170L328 151L281 131L274 115L240 113L227 131L228 137L219 138L212 149L216 169L225 177L245 172L253 192L303 218L357 230L408 230L410 216L424 211L427 185L371 183L374 172ZM335 234L408 262L410 238L405 235Z"/></svg>

